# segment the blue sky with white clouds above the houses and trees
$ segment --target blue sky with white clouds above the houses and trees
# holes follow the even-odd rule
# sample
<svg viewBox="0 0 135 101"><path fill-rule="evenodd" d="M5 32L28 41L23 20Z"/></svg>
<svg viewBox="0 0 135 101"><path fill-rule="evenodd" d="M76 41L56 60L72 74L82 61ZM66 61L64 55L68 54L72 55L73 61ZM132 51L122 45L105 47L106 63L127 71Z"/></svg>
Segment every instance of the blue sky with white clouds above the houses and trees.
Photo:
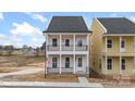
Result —
<svg viewBox="0 0 135 101"><path fill-rule="evenodd" d="M83 16L88 29L93 17L128 17L135 21L134 12L1 12L0 45L40 47L45 41L42 31L54 15Z"/></svg>

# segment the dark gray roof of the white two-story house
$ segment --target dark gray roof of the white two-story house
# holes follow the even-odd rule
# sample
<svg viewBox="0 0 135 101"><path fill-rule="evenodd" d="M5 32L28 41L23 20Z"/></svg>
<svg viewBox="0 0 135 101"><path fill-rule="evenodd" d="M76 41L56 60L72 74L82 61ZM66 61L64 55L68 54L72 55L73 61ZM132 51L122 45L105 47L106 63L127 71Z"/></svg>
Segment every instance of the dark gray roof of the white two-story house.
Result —
<svg viewBox="0 0 135 101"><path fill-rule="evenodd" d="M53 16L45 33L89 33L82 16Z"/></svg>

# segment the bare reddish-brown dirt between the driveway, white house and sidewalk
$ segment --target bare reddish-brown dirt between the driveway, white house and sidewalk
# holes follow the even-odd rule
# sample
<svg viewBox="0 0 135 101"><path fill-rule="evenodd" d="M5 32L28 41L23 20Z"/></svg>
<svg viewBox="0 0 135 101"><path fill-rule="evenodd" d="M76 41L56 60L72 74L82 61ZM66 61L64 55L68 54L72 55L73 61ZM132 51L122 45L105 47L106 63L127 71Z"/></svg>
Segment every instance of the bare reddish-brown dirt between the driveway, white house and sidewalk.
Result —
<svg viewBox="0 0 135 101"><path fill-rule="evenodd" d="M1 78L4 81L53 81L53 83L78 83L75 75L59 75L48 74L45 77L44 73L28 74L28 75L14 75Z"/></svg>

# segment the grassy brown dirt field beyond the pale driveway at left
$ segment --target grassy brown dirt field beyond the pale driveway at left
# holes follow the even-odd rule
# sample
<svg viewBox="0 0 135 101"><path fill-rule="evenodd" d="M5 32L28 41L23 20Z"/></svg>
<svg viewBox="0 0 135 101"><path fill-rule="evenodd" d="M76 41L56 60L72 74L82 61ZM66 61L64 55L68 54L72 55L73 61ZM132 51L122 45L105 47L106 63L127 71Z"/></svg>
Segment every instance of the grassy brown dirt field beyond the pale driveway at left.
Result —
<svg viewBox="0 0 135 101"><path fill-rule="evenodd" d="M11 73L29 67L44 67L44 56L0 56L0 73Z"/></svg>

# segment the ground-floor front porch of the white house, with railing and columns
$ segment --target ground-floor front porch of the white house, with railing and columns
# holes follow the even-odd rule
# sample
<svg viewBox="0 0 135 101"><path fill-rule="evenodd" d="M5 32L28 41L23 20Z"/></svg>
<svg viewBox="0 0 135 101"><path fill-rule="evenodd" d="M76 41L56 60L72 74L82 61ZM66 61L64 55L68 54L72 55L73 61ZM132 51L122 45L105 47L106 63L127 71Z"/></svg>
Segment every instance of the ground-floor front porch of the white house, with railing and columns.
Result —
<svg viewBox="0 0 135 101"><path fill-rule="evenodd" d="M60 58L61 56L61 58ZM49 55L46 74L89 74L87 55Z"/></svg>

